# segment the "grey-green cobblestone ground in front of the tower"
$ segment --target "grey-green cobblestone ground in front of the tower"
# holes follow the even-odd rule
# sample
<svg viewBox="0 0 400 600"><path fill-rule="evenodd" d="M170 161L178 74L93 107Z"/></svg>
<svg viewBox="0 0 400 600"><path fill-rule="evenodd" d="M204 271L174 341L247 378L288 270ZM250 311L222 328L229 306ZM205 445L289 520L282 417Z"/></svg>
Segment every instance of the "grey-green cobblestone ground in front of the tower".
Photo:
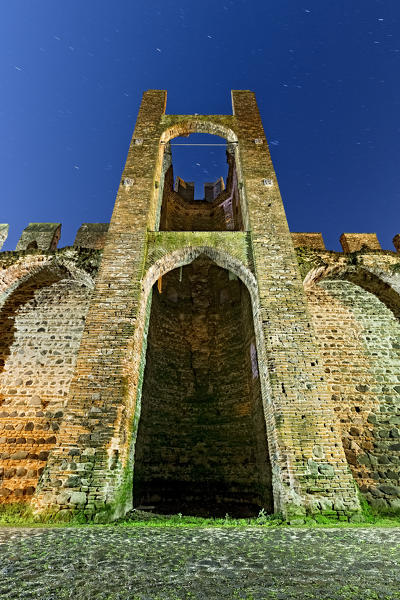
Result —
<svg viewBox="0 0 400 600"><path fill-rule="evenodd" d="M0 598L400 599L400 529L0 529Z"/></svg>

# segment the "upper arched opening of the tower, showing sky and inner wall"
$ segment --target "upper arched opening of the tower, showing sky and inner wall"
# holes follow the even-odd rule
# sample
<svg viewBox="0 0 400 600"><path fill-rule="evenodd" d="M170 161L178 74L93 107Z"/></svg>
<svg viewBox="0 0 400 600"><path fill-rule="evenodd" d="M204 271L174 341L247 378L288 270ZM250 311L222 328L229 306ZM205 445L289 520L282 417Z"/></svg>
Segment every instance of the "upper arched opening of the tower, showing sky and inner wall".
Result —
<svg viewBox="0 0 400 600"><path fill-rule="evenodd" d="M235 145L204 133L166 144L161 231L243 230Z"/></svg>

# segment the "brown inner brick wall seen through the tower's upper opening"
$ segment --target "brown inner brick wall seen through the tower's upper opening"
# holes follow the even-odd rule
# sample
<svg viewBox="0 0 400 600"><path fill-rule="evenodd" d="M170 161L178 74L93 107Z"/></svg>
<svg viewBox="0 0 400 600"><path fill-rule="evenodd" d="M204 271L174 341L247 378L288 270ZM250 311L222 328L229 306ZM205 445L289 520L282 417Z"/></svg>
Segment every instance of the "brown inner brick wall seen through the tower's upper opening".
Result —
<svg viewBox="0 0 400 600"><path fill-rule="evenodd" d="M206 183L204 199L194 199L194 184L174 178L171 151L164 151L160 231L242 231L243 218L232 148L226 152L228 177Z"/></svg>

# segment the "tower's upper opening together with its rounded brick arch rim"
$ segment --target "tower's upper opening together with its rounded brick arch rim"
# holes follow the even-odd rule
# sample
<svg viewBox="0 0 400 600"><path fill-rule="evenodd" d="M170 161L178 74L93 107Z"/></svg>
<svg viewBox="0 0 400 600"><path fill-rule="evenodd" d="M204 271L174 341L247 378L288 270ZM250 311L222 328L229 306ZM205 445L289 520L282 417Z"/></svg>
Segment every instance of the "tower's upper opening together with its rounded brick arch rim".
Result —
<svg viewBox="0 0 400 600"><path fill-rule="evenodd" d="M156 229L247 229L247 211L240 181L238 140L230 128L192 118L179 121L166 129L160 143L163 158L160 163L161 172L156 176L159 182ZM178 156L178 147L180 153L184 151L186 160ZM219 156L221 152L226 155L222 161ZM215 170L218 162L222 164ZM227 164L223 165L224 162ZM191 163L194 170L189 168ZM187 175L180 172L184 166L188 167L189 180L185 180ZM197 171L203 174L201 190L198 189L199 181L194 181L198 177Z"/></svg>

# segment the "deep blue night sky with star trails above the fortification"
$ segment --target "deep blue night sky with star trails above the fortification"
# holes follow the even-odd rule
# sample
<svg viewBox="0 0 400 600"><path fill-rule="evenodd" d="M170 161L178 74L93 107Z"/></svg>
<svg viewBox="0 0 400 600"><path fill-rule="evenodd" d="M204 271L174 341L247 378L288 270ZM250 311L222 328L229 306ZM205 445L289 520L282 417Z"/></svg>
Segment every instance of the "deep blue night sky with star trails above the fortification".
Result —
<svg viewBox="0 0 400 600"><path fill-rule="evenodd" d="M291 230L322 231L331 249L375 231L393 249L399 0L12 0L0 56L7 249L29 221L62 222L66 245L110 219L150 88L182 114L230 114L230 90L254 90Z"/></svg>

